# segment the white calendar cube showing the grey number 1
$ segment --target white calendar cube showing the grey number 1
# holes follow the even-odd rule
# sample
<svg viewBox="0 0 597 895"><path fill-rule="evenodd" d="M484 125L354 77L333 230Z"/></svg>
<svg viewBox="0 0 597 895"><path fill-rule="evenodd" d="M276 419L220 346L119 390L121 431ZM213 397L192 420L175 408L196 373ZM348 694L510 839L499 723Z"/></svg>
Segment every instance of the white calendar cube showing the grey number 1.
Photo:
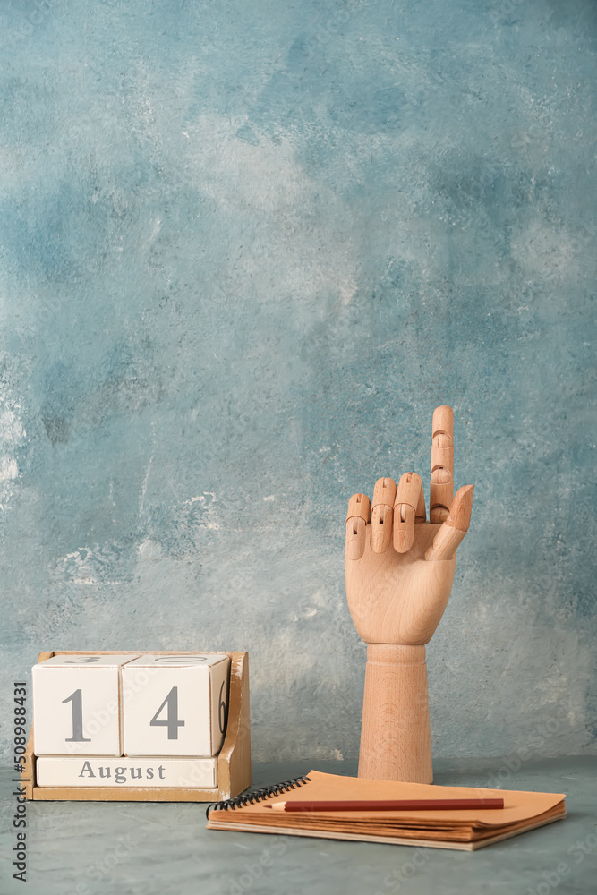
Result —
<svg viewBox="0 0 597 895"><path fill-rule="evenodd" d="M135 655L53 656L32 669L36 755L121 755L121 669Z"/></svg>

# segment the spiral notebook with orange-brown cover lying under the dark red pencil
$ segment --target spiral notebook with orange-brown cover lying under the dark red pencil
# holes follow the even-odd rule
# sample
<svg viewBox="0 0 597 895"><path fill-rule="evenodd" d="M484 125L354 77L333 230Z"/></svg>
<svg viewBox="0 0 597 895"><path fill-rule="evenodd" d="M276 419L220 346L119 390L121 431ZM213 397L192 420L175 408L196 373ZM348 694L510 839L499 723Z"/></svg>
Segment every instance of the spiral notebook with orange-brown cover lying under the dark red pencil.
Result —
<svg viewBox="0 0 597 895"><path fill-rule="evenodd" d="M503 798L489 810L293 813L271 811L268 802L405 798ZM228 799L208 808L209 830L282 833L324 839L473 851L566 817L562 793L440 787L423 783L363 780L310 771L304 777Z"/></svg>

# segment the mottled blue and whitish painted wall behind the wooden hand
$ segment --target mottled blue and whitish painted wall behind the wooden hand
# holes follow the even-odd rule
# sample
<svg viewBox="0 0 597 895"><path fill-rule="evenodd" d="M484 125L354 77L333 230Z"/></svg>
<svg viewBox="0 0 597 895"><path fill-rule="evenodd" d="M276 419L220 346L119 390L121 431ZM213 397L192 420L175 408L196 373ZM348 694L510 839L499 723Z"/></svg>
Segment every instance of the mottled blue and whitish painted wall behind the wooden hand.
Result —
<svg viewBox="0 0 597 895"><path fill-rule="evenodd" d="M246 648L255 757L354 757L345 504L450 403L435 753L595 751L596 25L0 4L4 705L42 648Z"/></svg>

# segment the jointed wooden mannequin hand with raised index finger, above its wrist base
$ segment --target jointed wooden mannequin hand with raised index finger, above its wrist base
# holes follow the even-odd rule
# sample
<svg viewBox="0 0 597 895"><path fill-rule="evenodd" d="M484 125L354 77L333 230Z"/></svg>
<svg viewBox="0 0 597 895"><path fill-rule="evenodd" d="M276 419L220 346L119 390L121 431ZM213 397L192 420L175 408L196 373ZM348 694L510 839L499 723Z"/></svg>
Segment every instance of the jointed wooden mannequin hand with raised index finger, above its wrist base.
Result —
<svg viewBox="0 0 597 895"><path fill-rule="evenodd" d="M430 518L422 481L405 473L398 486L380 479L371 504L355 494L346 519L346 595L367 644L428 644L454 580L456 547L465 537L473 485L454 493L452 409L433 413Z"/></svg>

